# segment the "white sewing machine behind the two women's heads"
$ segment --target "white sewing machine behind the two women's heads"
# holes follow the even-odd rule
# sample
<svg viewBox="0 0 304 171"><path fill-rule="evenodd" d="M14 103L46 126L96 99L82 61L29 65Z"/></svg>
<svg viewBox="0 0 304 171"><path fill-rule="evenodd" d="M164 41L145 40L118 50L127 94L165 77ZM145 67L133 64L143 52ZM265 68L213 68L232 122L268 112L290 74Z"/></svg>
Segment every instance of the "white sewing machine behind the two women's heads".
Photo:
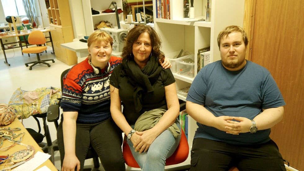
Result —
<svg viewBox="0 0 304 171"><path fill-rule="evenodd" d="M113 38L113 51L121 52L125 44L124 38L127 37L126 29L100 28L99 30L109 33Z"/></svg>

